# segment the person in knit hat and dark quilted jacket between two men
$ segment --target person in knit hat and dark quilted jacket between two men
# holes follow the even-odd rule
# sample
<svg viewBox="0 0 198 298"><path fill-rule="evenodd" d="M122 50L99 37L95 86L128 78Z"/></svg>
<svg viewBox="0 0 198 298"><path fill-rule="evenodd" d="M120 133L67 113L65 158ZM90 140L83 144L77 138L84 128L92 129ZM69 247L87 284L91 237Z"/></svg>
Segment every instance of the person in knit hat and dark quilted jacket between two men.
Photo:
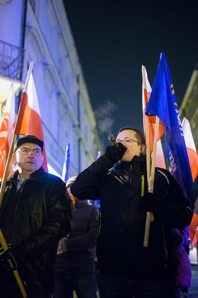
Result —
<svg viewBox="0 0 198 298"><path fill-rule="evenodd" d="M67 181L73 202L72 230L59 241L56 262L54 298L96 298L94 247L99 233L99 211L87 200L72 196L70 187L76 177Z"/></svg>

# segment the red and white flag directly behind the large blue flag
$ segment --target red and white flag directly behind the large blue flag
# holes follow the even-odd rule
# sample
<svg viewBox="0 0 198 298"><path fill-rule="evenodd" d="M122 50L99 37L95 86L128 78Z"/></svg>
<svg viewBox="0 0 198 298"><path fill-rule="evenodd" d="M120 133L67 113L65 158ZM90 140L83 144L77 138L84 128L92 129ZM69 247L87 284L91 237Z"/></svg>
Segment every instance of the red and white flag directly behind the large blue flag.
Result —
<svg viewBox="0 0 198 298"><path fill-rule="evenodd" d="M151 95L152 88L149 84L148 76L146 69L145 70L145 78L146 78L146 86L144 86L144 79L142 84L142 110L143 110L143 126L144 126L144 136L145 136L145 110L149 102L149 98ZM152 158L153 153L153 141L154 141L154 134L155 134L155 121L156 116L149 116L149 147L150 147L150 155ZM159 129L158 129L158 137L157 137L157 151L156 151L156 161L155 166L159 168L166 169L165 160L164 160L164 153L161 146L160 138L165 134L165 125L159 121Z"/></svg>

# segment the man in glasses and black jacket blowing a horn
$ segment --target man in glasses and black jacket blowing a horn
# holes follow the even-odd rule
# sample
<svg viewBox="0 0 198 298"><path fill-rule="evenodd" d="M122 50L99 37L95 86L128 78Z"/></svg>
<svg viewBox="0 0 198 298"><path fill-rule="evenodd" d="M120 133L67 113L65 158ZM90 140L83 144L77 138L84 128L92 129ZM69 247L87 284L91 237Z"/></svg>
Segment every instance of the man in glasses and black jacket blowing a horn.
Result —
<svg viewBox="0 0 198 298"><path fill-rule="evenodd" d="M71 186L78 199L100 199L100 297L172 297L171 227L190 224L188 201L170 172L161 168L155 168L153 193L148 193L144 136L138 129L120 129L117 142L118 147L108 146ZM154 221L145 248L147 211Z"/></svg>

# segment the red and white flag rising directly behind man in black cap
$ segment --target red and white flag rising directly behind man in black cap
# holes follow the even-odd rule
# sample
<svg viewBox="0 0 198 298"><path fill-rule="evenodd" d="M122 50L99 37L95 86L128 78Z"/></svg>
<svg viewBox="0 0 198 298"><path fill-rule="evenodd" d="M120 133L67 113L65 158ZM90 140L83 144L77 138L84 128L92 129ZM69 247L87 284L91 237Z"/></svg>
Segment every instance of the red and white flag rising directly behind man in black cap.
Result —
<svg viewBox="0 0 198 298"><path fill-rule="evenodd" d="M44 142L43 130L41 124L41 114L38 104L37 91L34 84L33 75L31 73L26 92L24 91L21 97L19 113L17 117L18 125L15 127L14 133L17 135L34 135ZM46 172L47 158L45 152L45 143L43 146L43 163L42 166Z"/></svg>

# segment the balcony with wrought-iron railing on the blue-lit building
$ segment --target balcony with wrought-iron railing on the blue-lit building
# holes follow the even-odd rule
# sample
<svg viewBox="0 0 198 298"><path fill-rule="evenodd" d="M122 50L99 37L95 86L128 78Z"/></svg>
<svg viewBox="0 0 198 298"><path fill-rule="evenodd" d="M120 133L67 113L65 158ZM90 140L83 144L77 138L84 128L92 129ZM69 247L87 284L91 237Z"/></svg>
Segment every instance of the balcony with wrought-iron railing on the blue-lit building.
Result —
<svg viewBox="0 0 198 298"><path fill-rule="evenodd" d="M24 50L0 40L0 75L19 80Z"/></svg>

